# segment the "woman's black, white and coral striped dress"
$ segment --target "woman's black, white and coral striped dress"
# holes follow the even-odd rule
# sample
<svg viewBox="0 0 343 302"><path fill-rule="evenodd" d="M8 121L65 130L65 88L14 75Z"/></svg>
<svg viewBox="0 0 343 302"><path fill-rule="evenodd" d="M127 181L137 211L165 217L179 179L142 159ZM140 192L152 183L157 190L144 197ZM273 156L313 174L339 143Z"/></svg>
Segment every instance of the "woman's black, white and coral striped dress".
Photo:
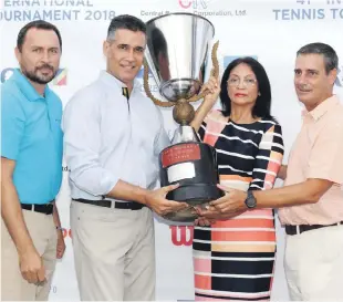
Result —
<svg viewBox="0 0 343 302"><path fill-rule="evenodd" d="M283 157L279 124L266 118L236 124L212 111L199 135L217 149L220 184L240 190L273 187ZM210 227L196 227L193 252L196 300L270 300L276 260L273 210L250 210Z"/></svg>

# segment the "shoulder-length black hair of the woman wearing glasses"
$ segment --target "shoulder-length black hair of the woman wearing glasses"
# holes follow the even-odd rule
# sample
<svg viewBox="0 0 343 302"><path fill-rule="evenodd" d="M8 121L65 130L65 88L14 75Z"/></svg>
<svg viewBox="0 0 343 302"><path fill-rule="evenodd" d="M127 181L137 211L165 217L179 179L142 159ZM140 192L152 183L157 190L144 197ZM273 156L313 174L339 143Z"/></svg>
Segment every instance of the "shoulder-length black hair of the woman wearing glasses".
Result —
<svg viewBox="0 0 343 302"><path fill-rule="evenodd" d="M273 119L273 117L270 115L271 90L267 72L257 60L250 56L233 60L224 72L220 84L220 102L222 105L224 116L229 116L231 113L231 100L228 94L228 79L231 71L239 64L247 64L250 66L258 81L259 95L252 108L252 116Z"/></svg>

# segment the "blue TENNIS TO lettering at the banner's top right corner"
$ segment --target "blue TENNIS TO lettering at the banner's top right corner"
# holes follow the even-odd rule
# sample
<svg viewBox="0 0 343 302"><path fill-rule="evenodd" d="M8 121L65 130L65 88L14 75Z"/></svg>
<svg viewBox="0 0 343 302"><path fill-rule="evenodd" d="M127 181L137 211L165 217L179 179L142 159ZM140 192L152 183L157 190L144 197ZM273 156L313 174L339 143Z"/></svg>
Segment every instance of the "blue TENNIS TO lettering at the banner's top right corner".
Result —
<svg viewBox="0 0 343 302"><path fill-rule="evenodd" d="M313 21L343 19L342 0L292 0L288 8L273 9L277 21Z"/></svg>

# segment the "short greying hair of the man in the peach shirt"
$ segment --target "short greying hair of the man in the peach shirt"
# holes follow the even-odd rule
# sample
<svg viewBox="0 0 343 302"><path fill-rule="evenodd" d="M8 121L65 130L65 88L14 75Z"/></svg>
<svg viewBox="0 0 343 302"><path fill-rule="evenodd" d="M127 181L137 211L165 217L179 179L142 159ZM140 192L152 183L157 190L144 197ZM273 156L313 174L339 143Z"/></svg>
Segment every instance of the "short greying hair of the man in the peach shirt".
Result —
<svg viewBox="0 0 343 302"><path fill-rule="evenodd" d="M324 43L311 43L302 46L297 55L300 54L322 54L324 56L325 71L329 74L332 70L339 69L339 56L334 49Z"/></svg>

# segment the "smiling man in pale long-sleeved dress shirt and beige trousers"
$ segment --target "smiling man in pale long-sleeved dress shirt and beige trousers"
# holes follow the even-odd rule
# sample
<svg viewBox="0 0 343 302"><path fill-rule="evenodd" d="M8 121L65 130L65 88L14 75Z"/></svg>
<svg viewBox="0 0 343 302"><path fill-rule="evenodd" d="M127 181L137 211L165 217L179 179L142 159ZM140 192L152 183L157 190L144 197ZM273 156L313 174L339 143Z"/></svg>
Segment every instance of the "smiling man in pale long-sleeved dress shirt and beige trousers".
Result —
<svg viewBox="0 0 343 302"><path fill-rule="evenodd" d="M64 112L71 228L81 300L154 300L153 211L187 207L155 189L158 154L169 145L162 114L135 82L145 23L118 15L104 42L107 70ZM153 211L152 211L153 210Z"/></svg>

